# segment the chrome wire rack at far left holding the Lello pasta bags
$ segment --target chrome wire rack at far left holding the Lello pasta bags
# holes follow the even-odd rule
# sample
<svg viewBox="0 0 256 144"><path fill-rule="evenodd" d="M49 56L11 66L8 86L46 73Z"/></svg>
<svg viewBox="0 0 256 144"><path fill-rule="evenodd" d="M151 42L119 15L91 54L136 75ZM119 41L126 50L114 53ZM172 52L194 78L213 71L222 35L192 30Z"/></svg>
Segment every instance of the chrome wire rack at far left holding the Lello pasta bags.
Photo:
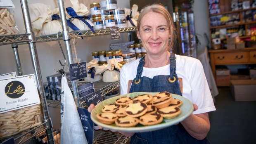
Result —
<svg viewBox="0 0 256 144"><path fill-rule="evenodd" d="M27 142L30 140L32 137L37 135L38 133L46 130L47 132L47 138L48 138L48 144L54 144L53 140L53 135L52 135L52 122L49 117L49 112L48 112L48 107L45 99L45 94L43 90L43 81L42 81L42 76L40 72L40 66L39 66L39 61L38 61L38 56L37 56L37 51L36 51L36 44L35 44L35 35L32 31L32 23L30 19L30 14L28 10L28 2L27 0L20 0L21 2L21 9L22 9L22 14L24 18L24 24L25 24L25 29L26 29L26 34L15 34L15 35L1 35L0 36L0 45L9 45L12 44L12 48L14 48L14 55L16 62L19 63L19 55L17 51L17 44L27 42L31 54L31 60L32 60L32 65L35 73L35 78L36 78L36 84L38 87L38 91L41 96L41 106L43 109L43 120L42 124L39 125L38 127L33 127L27 131L24 131L22 133L19 133L17 135L14 135L15 144L22 144L24 142ZM17 55L16 55L17 54ZM20 64L17 64L20 65ZM21 67L18 67L19 71L19 76L22 74L21 72Z"/></svg>

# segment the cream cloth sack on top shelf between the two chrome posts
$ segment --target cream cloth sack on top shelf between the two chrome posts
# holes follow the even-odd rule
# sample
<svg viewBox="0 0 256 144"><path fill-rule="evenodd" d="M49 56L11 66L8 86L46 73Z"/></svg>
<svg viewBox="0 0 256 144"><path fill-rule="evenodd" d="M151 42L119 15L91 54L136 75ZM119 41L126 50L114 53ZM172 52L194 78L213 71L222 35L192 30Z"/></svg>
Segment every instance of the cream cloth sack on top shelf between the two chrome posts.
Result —
<svg viewBox="0 0 256 144"><path fill-rule="evenodd" d="M62 31L59 8L51 10L50 6L38 3L31 4L30 7L32 15L36 17L33 21L33 17L31 17L33 31L36 36L52 35Z"/></svg>

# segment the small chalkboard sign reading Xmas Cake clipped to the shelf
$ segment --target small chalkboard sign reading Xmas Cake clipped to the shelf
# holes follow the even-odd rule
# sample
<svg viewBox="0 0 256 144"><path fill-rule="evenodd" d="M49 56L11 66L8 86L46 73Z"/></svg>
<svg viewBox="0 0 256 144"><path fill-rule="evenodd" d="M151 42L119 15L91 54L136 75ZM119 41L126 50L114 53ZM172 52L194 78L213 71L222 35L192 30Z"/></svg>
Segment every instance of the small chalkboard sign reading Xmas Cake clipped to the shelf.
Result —
<svg viewBox="0 0 256 144"><path fill-rule="evenodd" d="M69 70L71 81L85 78L87 76L86 61L78 64L70 64Z"/></svg>

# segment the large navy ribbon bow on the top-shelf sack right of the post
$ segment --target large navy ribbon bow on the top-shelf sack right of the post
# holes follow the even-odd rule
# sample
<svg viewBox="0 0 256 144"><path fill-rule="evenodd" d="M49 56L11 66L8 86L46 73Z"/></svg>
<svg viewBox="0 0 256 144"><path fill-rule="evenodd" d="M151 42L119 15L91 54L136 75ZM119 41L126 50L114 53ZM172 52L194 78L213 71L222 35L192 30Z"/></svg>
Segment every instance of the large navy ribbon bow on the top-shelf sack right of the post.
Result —
<svg viewBox="0 0 256 144"><path fill-rule="evenodd" d="M90 30L91 30L93 33L96 33L96 32L94 31L94 29L92 28L92 26L91 26L87 21L85 21L85 19L90 19L90 17L78 16L72 7L67 7L67 8L66 8L66 12L71 16L71 18L67 20L67 25L68 25L70 28L72 28L72 29L74 28L74 29L73 29L74 31L80 31L80 30L79 30L79 28L77 28L74 24L72 24L72 23L70 22L70 20L71 20L72 18L76 18L76 19L79 19L79 20L83 21L83 22L90 28ZM69 21L69 22L68 22L68 21Z"/></svg>

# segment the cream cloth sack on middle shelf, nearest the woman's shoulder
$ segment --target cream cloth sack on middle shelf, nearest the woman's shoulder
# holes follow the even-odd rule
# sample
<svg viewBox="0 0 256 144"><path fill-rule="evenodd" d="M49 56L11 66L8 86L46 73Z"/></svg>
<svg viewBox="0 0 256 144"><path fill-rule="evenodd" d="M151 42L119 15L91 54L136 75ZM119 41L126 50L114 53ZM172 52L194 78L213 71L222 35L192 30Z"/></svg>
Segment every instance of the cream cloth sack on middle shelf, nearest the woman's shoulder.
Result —
<svg viewBox="0 0 256 144"><path fill-rule="evenodd" d="M103 73L103 82L116 82L120 80L121 67L122 64L119 64L119 62L117 62L116 59L109 59L107 64L97 66L95 75Z"/></svg>

